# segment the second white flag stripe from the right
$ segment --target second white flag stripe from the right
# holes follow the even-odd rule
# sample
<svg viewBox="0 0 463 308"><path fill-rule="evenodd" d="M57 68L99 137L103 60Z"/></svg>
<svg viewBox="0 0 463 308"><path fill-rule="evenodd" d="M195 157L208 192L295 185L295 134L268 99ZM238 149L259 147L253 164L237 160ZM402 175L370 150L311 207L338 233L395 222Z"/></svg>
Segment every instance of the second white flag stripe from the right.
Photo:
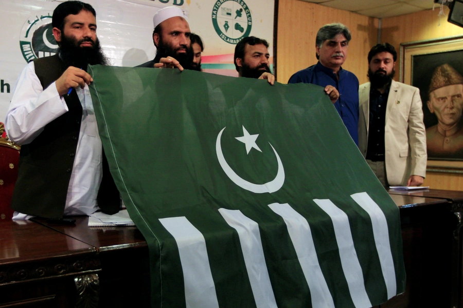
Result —
<svg viewBox="0 0 463 308"><path fill-rule="evenodd" d="M313 199L313 201L331 217L331 221L333 222L334 235L336 236L337 247L339 248L339 255L341 257L341 265L349 287L350 297L355 307L371 307L368 294L365 290L362 267L360 266L357 252L355 252L346 213L334 205L329 199Z"/></svg>

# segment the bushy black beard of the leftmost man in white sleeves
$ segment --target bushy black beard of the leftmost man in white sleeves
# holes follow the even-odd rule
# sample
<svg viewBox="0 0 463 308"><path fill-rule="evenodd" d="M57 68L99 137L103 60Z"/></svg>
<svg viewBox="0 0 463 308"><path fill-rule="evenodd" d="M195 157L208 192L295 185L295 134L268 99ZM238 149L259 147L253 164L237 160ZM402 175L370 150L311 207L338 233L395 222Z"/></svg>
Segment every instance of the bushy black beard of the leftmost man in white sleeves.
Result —
<svg viewBox="0 0 463 308"><path fill-rule="evenodd" d="M101 49L98 38L96 39L96 42L93 42L90 37L77 41L74 36L65 36L63 31L61 31L61 33L61 42L58 53L66 68L74 66L86 71L88 64L110 64L108 58L104 55L103 50ZM83 42L92 42L94 44L91 47L80 47L80 44Z"/></svg>

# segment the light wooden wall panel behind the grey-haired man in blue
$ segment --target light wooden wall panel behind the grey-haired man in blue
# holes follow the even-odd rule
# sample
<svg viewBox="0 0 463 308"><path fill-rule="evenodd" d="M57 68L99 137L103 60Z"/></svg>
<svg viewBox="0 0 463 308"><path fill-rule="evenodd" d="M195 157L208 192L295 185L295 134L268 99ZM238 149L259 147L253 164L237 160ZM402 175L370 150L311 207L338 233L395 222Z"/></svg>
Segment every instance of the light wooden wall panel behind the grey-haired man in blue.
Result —
<svg viewBox="0 0 463 308"><path fill-rule="evenodd" d="M367 82L367 55L378 41L378 20L300 0L279 0L277 80L287 83L298 70L317 63L315 37L325 24L340 22L352 33L343 68Z"/></svg>

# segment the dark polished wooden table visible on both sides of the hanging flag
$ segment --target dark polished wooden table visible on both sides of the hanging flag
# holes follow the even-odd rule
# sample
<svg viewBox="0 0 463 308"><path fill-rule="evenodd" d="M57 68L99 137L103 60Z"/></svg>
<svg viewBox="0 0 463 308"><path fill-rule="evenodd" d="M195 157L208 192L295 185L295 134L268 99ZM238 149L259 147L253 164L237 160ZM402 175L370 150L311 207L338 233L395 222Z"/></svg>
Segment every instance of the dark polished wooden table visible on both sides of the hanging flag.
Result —
<svg viewBox="0 0 463 308"><path fill-rule="evenodd" d="M452 280L455 263L451 261L456 258L455 248L460 249L452 243L458 225L455 203L463 201L463 194L457 199L457 195L446 195L443 191L429 192L429 196L419 196L424 194L422 191L390 192L400 208L407 285L404 295L394 297L381 308L452 307L455 291L457 298L460 294L461 287L456 290ZM0 308L3 303L17 299L34 301L33 307L71 307L76 303L79 306L79 298L87 297L76 295L74 278L88 274L98 275L91 282L99 285L100 292L98 304L87 302L87 306L149 307L149 253L139 230L88 227L87 222L87 217L77 217L75 225L55 225L43 219L24 225L0 223L0 273L19 272L22 268L31 268L28 272L31 273L34 272L31 264L37 268L43 264L69 265L77 260L84 260L78 264L85 264L77 269L70 266L72 270L67 266L65 272L47 274L45 278L29 275L25 280L0 281L0 294L9 293L7 298L0 297ZM76 261L73 263L73 260ZM461 278L461 268L457 273ZM26 294L27 288L23 285L38 291ZM49 292L40 287L48 288ZM48 302L40 306L39 295L54 297L44 298ZM463 308L463 305L456 303L455 307Z"/></svg>

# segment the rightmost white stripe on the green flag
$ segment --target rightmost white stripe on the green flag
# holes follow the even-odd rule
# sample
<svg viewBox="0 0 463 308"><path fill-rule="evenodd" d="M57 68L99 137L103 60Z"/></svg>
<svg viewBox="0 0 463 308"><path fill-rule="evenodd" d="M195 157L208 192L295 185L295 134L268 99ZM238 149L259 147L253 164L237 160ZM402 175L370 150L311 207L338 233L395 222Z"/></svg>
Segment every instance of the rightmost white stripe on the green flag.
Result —
<svg viewBox="0 0 463 308"><path fill-rule="evenodd" d="M391 298L397 293L396 271L394 261L390 251L389 229L387 227L386 216L381 208L366 192L350 195L370 216L373 226L373 237L375 237L376 249L378 251L381 271L386 282L387 298Z"/></svg>

